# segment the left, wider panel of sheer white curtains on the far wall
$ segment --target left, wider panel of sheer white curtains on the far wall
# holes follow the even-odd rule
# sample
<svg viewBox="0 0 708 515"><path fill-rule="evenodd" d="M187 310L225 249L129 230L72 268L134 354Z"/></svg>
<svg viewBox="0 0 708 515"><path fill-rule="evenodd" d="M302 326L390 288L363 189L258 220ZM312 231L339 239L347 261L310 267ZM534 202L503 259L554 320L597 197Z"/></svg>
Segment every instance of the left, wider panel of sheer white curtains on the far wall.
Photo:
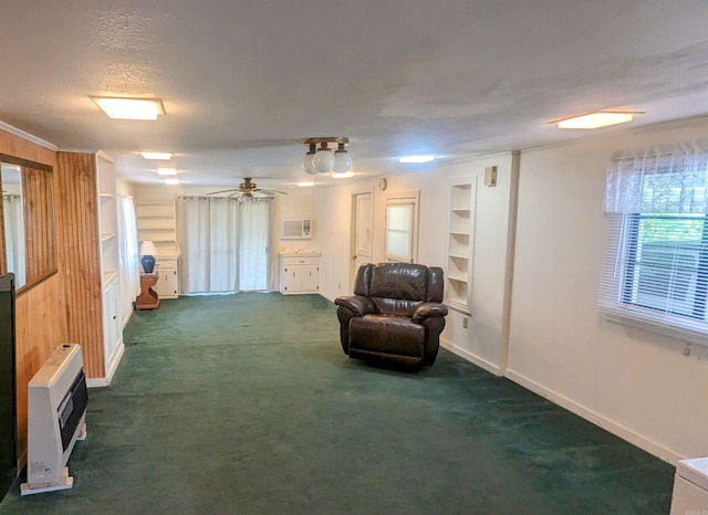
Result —
<svg viewBox="0 0 708 515"><path fill-rule="evenodd" d="M235 292L238 278L239 202L229 198L177 199L183 293Z"/></svg>

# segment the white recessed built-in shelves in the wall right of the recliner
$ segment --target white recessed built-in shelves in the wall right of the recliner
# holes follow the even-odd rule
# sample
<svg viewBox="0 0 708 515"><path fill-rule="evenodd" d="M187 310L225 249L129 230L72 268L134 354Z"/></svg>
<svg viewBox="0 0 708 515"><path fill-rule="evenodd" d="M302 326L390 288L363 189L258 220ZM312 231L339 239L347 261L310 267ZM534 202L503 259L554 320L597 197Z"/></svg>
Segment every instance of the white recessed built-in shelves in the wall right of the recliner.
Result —
<svg viewBox="0 0 708 515"><path fill-rule="evenodd" d="M476 183L450 188L445 303L471 315Z"/></svg>

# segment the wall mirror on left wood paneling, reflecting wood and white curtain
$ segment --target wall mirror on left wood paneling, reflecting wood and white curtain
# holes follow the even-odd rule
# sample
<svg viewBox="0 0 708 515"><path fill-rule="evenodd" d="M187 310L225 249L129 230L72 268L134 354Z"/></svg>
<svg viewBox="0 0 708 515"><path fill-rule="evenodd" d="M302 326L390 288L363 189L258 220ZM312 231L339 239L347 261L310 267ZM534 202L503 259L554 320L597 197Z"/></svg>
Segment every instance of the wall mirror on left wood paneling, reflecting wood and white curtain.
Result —
<svg viewBox="0 0 708 515"><path fill-rule="evenodd" d="M0 185L6 270L20 291L56 272L52 167L0 154Z"/></svg>

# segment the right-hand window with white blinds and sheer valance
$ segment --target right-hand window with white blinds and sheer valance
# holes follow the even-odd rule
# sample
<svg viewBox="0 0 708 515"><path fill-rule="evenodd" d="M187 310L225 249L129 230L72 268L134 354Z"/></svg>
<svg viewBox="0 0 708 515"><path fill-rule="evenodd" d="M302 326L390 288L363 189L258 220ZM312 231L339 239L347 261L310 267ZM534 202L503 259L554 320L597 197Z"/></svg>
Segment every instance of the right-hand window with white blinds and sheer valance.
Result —
<svg viewBox="0 0 708 515"><path fill-rule="evenodd" d="M625 155L607 172L598 308L708 341L708 154Z"/></svg>

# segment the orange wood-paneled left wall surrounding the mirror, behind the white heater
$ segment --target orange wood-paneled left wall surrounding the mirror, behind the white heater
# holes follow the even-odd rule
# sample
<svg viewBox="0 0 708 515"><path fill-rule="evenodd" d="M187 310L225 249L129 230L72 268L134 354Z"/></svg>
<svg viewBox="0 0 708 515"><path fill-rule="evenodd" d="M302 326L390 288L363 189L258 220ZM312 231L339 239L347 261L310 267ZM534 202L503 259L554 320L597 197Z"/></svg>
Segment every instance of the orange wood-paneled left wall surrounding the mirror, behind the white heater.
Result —
<svg viewBox="0 0 708 515"><path fill-rule="evenodd" d="M56 151L2 129L0 129L0 154L56 168ZM56 190L54 190L54 202L56 202ZM0 272L4 273L4 252L2 255ZM65 340L63 312L62 285L56 274L33 287L25 288L17 297L18 471L22 470L27 463L27 385L56 346Z"/></svg>

